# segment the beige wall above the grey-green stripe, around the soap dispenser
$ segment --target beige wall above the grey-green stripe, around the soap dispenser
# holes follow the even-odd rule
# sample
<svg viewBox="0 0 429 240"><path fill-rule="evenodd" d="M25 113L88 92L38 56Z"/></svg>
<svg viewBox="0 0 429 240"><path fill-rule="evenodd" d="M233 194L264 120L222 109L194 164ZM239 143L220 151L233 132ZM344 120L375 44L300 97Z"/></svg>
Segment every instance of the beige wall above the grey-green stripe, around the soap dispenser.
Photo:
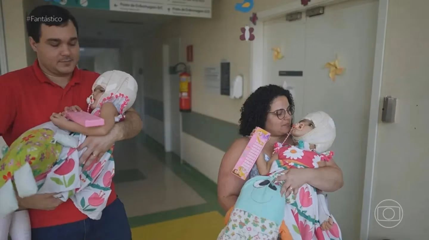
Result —
<svg viewBox="0 0 429 240"><path fill-rule="evenodd" d="M255 3L252 11L270 9L291 0L266 0L264 4ZM225 120L238 123L240 107L248 96L250 76L250 42L239 39L240 27L251 25L251 13L242 13L234 9L236 1L213 0L211 19L179 18L164 26L158 35L160 39L172 36L181 37L181 51L187 45L193 45L193 63L189 63L192 72L192 110ZM182 54L185 58L186 54ZM206 66L218 65L222 59L231 63L231 78L244 75L244 97L230 99L228 96L214 95L205 92L203 71ZM186 59L183 59L185 61ZM216 104L208 103L216 102Z"/></svg>

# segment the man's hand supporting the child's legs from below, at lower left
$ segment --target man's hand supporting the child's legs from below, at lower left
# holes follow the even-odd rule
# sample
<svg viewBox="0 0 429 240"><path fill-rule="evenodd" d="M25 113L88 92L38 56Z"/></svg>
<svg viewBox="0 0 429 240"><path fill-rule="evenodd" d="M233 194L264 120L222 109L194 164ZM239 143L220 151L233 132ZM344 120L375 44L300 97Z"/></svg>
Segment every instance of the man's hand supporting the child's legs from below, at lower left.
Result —
<svg viewBox="0 0 429 240"><path fill-rule="evenodd" d="M54 210L58 205L63 203L58 198L55 198L56 193L35 194L27 198L18 199L20 209L39 209L39 210Z"/></svg>

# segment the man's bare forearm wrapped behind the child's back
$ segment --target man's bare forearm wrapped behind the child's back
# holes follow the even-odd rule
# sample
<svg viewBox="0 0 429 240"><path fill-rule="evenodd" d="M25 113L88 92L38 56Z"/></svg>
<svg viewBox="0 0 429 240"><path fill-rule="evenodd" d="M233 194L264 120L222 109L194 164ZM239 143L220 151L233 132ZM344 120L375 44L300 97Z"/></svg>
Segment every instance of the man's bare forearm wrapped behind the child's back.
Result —
<svg viewBox="0 0 429 240"><path fill-rule="evenodd" d="M143 121L139 114L130 108L125 113L125 120L116 123L112 129L116 141L134 138L143 128Z"/></svg>

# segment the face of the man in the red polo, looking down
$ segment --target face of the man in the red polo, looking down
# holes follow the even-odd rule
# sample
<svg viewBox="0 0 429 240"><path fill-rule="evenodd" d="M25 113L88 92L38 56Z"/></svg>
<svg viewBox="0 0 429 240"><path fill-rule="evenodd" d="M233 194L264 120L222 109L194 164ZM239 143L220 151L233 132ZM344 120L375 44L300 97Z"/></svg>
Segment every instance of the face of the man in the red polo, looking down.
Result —
<svg viewBox="0 0 429 240"><path fill-rule="evenodd" d="M44 71L53 75L67 75L79 61L79 42L72 21L63 26L41 25L40 41L30 39L37 53L39 64Z"/></svg>

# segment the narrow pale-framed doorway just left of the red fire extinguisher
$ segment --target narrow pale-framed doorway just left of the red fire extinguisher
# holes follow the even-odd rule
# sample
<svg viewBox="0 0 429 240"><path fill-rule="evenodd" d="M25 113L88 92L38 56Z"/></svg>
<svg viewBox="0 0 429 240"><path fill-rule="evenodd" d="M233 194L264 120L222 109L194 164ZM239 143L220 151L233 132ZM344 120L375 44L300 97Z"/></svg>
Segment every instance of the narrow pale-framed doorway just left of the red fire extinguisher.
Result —
<svg viewBox="0 0 429 240"><path fill-rule="evenodd" d="M163 45L164 147L166 152L181 156L181 113L179 111L179 75L169 72L179 63L180 39L169 39Z"/></svg>

